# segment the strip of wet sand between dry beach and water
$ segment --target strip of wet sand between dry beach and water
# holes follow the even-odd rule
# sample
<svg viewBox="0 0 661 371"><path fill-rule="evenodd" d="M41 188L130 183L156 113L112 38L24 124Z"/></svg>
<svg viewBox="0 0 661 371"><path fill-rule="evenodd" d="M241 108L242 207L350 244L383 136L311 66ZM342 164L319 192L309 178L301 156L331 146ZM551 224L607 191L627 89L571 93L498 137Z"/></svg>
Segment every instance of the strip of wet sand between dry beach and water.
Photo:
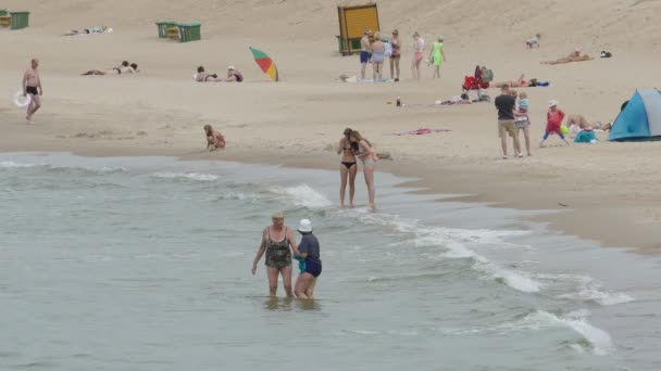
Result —
<svg viewBox="0 0 661 371"><path fill-rule="evenodd" d="M43 142L41 142L43 144ZM280 166L283 168L300 168L300 169L324 169L336 170L337 167L330 162L332 152L324 151L322 153L307 154L305 156L282 156L282 151L236 151L222 150L217 152L196 151L188 152L183 150L172 151L171 149L128 149L113 148L101 149L98 145L93 148L78 148L73 151L67 151L59 145L41 148L39 151L33 150L7 150L4 145L0 145L0 151L3 153L39 153L39 152L68 152L77 156L87 157L123 157L123 156L172 156L177 161L226 161L245 164L263 164ZM222 156L222 157L221 157ZM277 159L276 159L277 158ZM339 161L338 161L339 163ZM460 166L450 166L448 164L421 164L417 161L379 161L377 163L377 205L378 205L378 172L391 174L396 177L413 179L397 184L398 188L413 188L414 194L431 194L438 195L436 202L466 202L466 203L483 203L488 207L494 208L514 208L520 210L539 210L548 212L540 216L524 217L523 221L540 222L547 227L549 232L559 232L584 240L597 242L603 247L625 248L637 254L657 254L661 246L654 242L651 235L640 233L638 230L623 233L622 229L629 226L618 223L619 228L602 229L599 226L581 225L578 220L585 218L603 217L611 213L612 217L619 217L620 220L627 220L631 214L635 213L639 205L625 205L628 208L623 208L623 205L615 205L611 208L595 207L594 200L584 200L575 208L571 197L539 197L527 192L521 192L525 195L517 200L516 197L508 197L508 190L514 187L516 178L509 181L503 181L502 177L494 177L489 174L474 171L474 169L461 169ZM495 179L497 181L494 181ZM486 188L483 184L488 184ZM357 176L357 189L361 190L364 187L360 168ZM339 188L339 179L338 179ZM359 193L360 194L360 193ZM441 197L442 195L442 197ZM569 200L565 203L553 200ZM338 200L333 202L339 204ZM566 206L562 206L562 205ZM625 210L625 213L622 213ZM653 226L652 226L653 229ZM651 230L650 230L651 231ZM651 231L653 232L653 231Z"/></svg>

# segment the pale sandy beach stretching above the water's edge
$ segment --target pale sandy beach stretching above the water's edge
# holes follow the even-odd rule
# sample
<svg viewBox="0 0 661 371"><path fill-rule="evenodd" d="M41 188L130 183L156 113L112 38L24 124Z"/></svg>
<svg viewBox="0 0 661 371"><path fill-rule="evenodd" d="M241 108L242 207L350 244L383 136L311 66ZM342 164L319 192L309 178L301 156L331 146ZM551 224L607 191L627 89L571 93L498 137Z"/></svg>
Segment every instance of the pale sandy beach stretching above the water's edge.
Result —
<svg viewBox="0 0 661 371"><path fill-rule="evenodd" d="M601 141L595 145L565 148L557 138L548 148L537 145L550 99L568 114L607 123L635 89L656 87L650 76L657 75L661 48L650 30L656 24L651 14L661 11L661 3L560 0L522 7L506 1L502 8L512 10L477 15L476 9L490 2L426 4L378 2L382 29L398 28L404 42L401 82L342 84L338 76L356 75L360 65L358 55L337 52L334 2L196 0L161 7L152 0L5 1L2 7L32 14L29 28L0 29L0 151L336 168L339 157L333 149L345 127L351 127L391 155L378 163L377 171L417 178L415 186L424 192L463 194L462 200L496 207L560 210L541 220L604 246L661 251L659 142L611 143L598 133ZM158 39L154 22L165 18L202 22L202 40ZM60 36L101 25L114 33ZM426 66L422 81L411 79L410 35L415 30L427 40L427 51L435 35L445 36L448 61L440 79L433 80ZM544 35L541 48L525 50L525 39L536 33ZM280 82L269 82L249 46L275 60ZM593 56L608 50L613 57L539 63L564 56L575 46ZM26 125L11 97L32 57L40 60L45 94L35 125ZM123 60L138 63L141 72L79 76ZM464 75L476 64L492 68L496 80L525 74L551 81L548 88L524 89L531 99L534 156L501 159L492 104L432 105L460 94ZM191 76L198 65L219 74L234 65L246 82L197 84ZM495 97L496 90L489 93ZM409 105L387 104L398 95ZM204 151L204 124L225 135L227 149ZM419 128L450 131L391 135Z"/></svg>

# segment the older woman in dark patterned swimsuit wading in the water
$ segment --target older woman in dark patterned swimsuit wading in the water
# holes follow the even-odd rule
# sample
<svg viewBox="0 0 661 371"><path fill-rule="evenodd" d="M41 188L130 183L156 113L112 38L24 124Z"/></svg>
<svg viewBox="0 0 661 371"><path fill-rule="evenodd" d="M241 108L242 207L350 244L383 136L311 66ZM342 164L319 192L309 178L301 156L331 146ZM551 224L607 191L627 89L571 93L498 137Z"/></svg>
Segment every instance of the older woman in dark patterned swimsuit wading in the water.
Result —
<svg viewBox="0 0 661 371"><path fill-rule="evenodd" d="M257 265L262 255L266 253L266 274L269 276L269 294L274 297L277 292L277 277L283 276L283 284L288 297L291 292L291 252L298 254L298 246L294 239L291 228L285 226L285 216L276 213L272 216L273 225L262 232L262 243L252 261L252 274L257 272Z"/></svg>

